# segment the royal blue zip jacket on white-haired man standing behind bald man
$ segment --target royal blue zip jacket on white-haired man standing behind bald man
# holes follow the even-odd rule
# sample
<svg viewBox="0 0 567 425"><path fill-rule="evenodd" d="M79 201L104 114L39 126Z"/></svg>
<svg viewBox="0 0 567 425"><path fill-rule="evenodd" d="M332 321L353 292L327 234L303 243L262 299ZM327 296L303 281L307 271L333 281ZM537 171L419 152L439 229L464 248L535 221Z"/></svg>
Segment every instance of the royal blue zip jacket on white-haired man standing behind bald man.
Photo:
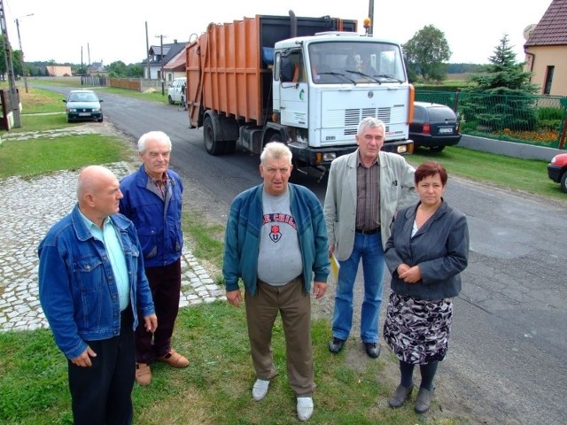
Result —
<svg viewBox="0 0 567 425"><path fill-rule="evenodd" d="M179 175L167 170L165 201L155 192L144 165L120 181L120 190L124 195L120 213L134 222L145 267L164 267L177 261L183 249L183 181Z"/></svg>

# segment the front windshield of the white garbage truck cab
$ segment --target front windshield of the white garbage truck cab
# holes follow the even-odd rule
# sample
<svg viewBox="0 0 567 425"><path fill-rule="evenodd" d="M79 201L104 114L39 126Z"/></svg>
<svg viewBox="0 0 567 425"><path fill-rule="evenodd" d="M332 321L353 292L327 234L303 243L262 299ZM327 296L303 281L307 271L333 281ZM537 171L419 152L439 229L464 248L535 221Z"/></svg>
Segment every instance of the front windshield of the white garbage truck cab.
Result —
<svg viewBox="0 0 567 425"><path fill-rule="evenodd" d="M407 80L400 47L387 42L312 42L309 64L315 84Z"/></svg>

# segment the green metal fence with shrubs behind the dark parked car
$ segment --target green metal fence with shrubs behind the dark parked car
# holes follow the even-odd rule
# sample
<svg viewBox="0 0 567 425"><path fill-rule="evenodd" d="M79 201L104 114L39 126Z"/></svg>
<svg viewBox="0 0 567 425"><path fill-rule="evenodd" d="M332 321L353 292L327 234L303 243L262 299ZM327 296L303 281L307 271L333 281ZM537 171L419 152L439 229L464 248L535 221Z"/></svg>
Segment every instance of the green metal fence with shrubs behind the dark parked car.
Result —
<svg viewBox="0 0 567 425"><path fill-rule="evenodd" d="M416 101L452 108L465 135L565 149L567 97L416 90Z"/></svg>

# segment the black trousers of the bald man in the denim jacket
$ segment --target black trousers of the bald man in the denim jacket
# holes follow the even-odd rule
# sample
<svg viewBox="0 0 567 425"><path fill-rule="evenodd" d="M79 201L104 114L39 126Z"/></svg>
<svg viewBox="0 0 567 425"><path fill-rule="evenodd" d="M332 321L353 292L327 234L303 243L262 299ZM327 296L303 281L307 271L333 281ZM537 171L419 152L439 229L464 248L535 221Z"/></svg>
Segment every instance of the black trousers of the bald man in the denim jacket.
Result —
<svg viewBox="0 0 567 425"><path fill-rule="evenodd" d="M87 341L97 353L91 367L68 361L75 425L129 425L132 423L132 388L136 373L132 312L120 315L120 336Z"/></svg>

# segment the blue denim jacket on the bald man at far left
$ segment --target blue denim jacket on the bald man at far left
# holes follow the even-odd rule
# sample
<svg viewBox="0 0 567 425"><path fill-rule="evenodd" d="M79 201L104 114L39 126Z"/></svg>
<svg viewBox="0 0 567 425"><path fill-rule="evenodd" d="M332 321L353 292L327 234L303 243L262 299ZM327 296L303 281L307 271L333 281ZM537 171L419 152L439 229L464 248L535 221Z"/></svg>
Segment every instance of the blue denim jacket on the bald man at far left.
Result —
<svg viewBox="0 0 567 425"><path fill-rule="evenodd" d="M155 313L144 273L144 259L132 222L120 214L110 219L119 232L128 268L134 314ZM79 206L58 221L39 245L39 298L55 343L68 359L87 349L85 341L120 335L120 302L113 268L101 241L82 219Z"/></svg>

